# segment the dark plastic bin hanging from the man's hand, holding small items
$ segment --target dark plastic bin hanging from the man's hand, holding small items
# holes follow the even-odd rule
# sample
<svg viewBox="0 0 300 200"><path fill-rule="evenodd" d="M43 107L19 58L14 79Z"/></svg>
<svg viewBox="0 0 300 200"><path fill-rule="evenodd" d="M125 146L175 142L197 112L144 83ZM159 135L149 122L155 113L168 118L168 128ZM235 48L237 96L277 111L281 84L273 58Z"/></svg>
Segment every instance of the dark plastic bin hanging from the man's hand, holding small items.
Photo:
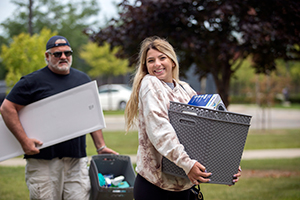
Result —
<svg viewBox="0 0 300 200"><path fill-rule="evenodd" d="M130 187L100 187L98 173L114 174L115 177L123 175ZM129 156L113 154L94 155L91 159L89 175L92 185L92 200L133 200L135 172Z"/></svg>

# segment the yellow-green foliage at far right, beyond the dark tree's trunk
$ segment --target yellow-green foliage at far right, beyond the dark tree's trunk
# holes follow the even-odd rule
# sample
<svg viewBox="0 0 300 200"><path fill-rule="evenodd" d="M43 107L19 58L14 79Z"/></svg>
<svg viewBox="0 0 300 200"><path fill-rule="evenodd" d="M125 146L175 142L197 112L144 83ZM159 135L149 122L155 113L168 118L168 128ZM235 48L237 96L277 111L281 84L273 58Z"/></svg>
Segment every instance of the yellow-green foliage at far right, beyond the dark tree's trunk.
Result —
<svg viewBox="0 0 300 200"><path fill-rule="evenodd" d="M284 99L283 88L289 89L292 103L299 102L296 95L300 89L299 61L277 59L276 71L265 75L255 73L251 57L243 61L240 69L231 78L231 103L256 103L258 100L261 105L281 103Z"/></svg>

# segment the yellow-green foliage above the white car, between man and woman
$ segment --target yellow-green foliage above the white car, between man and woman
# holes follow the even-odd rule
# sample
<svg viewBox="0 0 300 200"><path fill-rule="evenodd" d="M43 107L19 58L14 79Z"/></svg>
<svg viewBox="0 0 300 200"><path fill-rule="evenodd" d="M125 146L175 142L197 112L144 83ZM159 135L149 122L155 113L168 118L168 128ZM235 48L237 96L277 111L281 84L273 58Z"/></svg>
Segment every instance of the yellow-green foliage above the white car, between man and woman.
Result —
<svg viewBox="0 0 300 200"><path fill-rule="evenodd" d="M88 71L91 77L118 76L128 72L128 61L115 56L118 51L118 47L110 51L110 45L107 43L98 46L96 43L89 42L82 47L80 57L91 66L91 70Z"/></svg>

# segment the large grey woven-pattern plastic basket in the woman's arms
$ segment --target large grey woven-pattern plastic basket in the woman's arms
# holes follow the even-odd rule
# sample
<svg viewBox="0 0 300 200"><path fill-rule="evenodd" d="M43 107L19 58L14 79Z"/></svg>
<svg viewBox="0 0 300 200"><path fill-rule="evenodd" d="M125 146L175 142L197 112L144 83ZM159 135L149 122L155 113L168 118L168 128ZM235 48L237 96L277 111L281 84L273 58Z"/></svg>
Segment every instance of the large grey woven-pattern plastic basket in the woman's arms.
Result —
<svg viewBox="0 0 300 200"><path fill-rule="evenodd" d="M251 116L170 102L169 119L187 154L212 172L210 183L233 185ZM162 171L188 178L165 157Z"/></svg>

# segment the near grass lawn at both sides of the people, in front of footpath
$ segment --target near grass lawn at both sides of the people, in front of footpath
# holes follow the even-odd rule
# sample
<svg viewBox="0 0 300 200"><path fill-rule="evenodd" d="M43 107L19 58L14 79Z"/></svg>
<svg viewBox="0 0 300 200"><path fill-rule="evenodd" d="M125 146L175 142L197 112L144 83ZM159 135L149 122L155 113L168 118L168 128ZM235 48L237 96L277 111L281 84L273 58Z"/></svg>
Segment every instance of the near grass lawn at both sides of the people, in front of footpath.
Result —
<svg viewBox="0 0 300 200"><path fill-rule="evenodd" d="M242 177L234 186L201 184L206 200L299 200L300 158L242 161ZM27 200L25 167L0 166L0 199ZM270 173L271 170L271 173ZM284 173L283 173L284 172Z"/></svg>

